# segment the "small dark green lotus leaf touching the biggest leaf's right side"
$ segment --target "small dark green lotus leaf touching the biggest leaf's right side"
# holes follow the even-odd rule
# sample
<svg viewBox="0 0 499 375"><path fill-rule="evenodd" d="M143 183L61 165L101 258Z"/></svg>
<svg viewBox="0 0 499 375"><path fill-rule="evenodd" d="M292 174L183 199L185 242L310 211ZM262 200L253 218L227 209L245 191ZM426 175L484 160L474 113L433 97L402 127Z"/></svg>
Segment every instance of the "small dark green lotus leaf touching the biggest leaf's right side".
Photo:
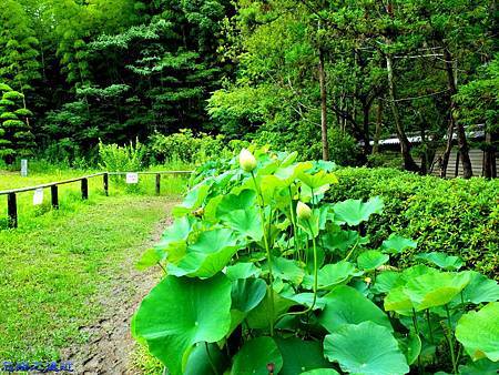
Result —
<svg viewBox="0 0 499 375"><path fill-rule="evenodd" d="M262 278L238 278L232 283L232 308L248 313L265 297L267 286Z"/></svg>

